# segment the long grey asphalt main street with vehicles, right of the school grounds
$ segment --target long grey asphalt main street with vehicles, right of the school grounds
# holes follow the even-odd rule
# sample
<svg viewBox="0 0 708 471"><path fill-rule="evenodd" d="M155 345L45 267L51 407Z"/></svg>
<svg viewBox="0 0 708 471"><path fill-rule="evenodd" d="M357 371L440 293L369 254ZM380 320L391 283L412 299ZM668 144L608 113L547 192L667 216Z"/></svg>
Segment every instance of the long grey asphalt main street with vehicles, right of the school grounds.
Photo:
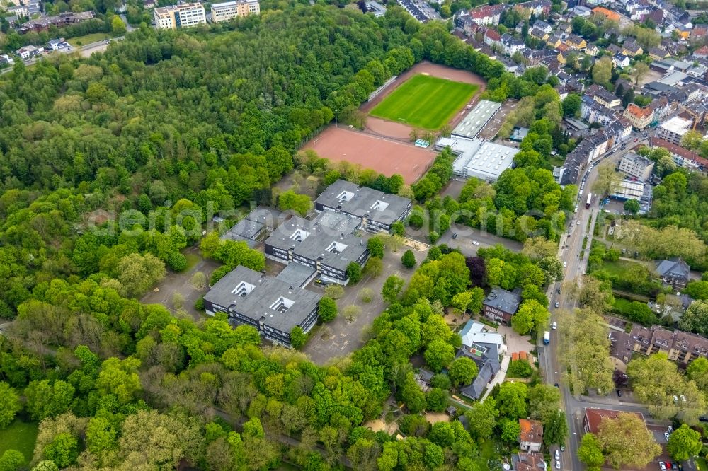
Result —
<svg viewBox="0 0 708 471"><path fill-rule="evenodd" d="M641 140L634 142L634 139ZM578 198L578 211L573 215L573 219L569 221L569 231L566 231L564 236L561 237L559 247L559 258L566 263L566 267L564 267L564 279L549 286L548 297L551 303L550 322L554 322L558 317L555 313L556 308L554 308L556 302L559 303L559 310L572 311L577 307L576 301L573 298L567 296L564 291L557 294L556 289L559 289L561 284L565 281L573 281L574 279L581 281L582 275L585 273L588 266L588 255L590 252L589 240L582 259L580 255L583 251L583 238L586 235L591 236L593 233L595 219L599 211L599 198L596 195L593 196L593 202L590 204L589 209L586 209L585 204L587 202L588 192L592 192L593 182L597 179L599 163L606 160L617 163L624 153L629 152L636 146L646 144L648 142L647 139L648 138L643 137L643 133L633 133L629 141L627 141L626 149L616 149L615 151L605 154L600 159L596 160L593 166L586 169L586 173L583 173L583 175L587 175L587 178L582 194L580 194L580 185L578 185L578 193L580 194ZM588 221L591 221L589 229ZM547 346L539 345L539 363L543 366L545 382L551 385L559 385L563 408L565 409L568 419L569 438L566 443L566 450L564 453L561 453L561 469L583 470L585 469L585 465L578 460L578 445L583 436L583 409L586 407L601 407L625 412L641 412L645 414L645 416L647 409L643 405L620 403L618 400L612 400L610 398L593 399L571 394L569 386L561 380L562 371L559 361L561 352L558 351L557 347L557 331L551 330L551 332L550 344ZM554 448L552 448L552 452L553 451ZM552 463L552 467L555 467L555 463Z"/></svg>

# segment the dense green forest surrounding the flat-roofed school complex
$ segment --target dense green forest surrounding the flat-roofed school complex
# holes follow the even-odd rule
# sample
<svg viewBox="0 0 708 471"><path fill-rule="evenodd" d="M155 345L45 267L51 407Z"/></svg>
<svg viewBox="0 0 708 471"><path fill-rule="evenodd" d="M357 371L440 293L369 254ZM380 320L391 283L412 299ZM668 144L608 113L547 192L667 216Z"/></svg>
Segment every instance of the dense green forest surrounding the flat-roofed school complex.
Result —
<svg viewBox="0 0 708 471"><path fill-rule="evenodd" d="M416 414L444 409L461 376L438 376L426 394L409 357L423 354L436 371L452 363L459 337L443 308L467 308L466 293L487 276L547 304L529 286L547 284L557 263L496 249L487 274L484 260L431 250L408 287L389 283L390 305L366 347L326 367L262 349L249 327L195 323L137 301L166 269L186 267L181 250L200 240L211 214L270 202L272 185L295 165L325 181L342 175L387 190L393 178L338 173L295 152L422 59L491 79L496 100L548 88L545 74L505 74L444 24L421 26L401 8L374 18L319 5L213 29L142 27L90 59L17 63L0 76L0 318L13 320L0 337L0 428L16 416L40 421L31 460L6 452L1 469L256 470L280 460L308 470L501 466L499 447L515 441L515 420L526 417L535 386L493 392L499 406L473 407L470 421L482 425L469 431L457 421L429 427ZM535 103L535 117L557 101L554 94L551 105ZM489 202L490 212L511 211L508 221L544 211L539 232L553 237L550 222L573 198L548 170L535 169L547 166L553 129L534 127L525 168L495 189L470 184L461 203ZM438 204L433 194L449 178L442 156L413 191ZM507 225L492 224L511 236ZM211 255L227 267L263 264L244 243ZM512 269L513 277L502 276ZM404 441L362 427L391 393L412 413ZM498 436L506 445L491 439Z"/></svg>

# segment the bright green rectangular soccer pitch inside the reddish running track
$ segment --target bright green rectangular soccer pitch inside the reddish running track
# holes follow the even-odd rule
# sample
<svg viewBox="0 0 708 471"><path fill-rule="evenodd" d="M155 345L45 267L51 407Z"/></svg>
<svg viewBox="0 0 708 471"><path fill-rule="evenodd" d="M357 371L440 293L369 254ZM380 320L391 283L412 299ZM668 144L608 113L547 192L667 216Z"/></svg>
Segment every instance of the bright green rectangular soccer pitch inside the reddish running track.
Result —
<svg viewBox="0 0 708 471"><path fill-rule="evenodd" d="M474 96L477 88L470 83L418 74L396 88L370 114L423 129L440 129Z"/></svg>

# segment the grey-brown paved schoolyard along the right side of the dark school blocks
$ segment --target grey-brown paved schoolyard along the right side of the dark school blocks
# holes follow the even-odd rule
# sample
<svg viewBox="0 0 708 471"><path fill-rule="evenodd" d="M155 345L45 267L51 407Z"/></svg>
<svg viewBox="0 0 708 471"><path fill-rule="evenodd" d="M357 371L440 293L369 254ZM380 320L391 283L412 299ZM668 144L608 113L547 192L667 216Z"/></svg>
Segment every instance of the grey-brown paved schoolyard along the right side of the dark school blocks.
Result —
<svg viewBox="0 0 708 471"><path fill-rule="evenodd" d="M395 274L404 280L406 284L416 271L418 265L412 269L406 268L401 264L401 255L405 252L405 248L399 249L397 253L391 253L386 250L384 253L384 269L381 275L377 278L365 276L355 286L345 286L344 296L337 301L339 313L335 320L329 324L316 327L313 336L307 342L307 345L302 349L309 358L318 365L324 365L334 359L347 356L352 351L360 349L367 340L365 332L372 324L375 318L382 313L386 307L386 303L381 298L381 288L384 281ZM427 252L419 252L413 250L418 263L426 258ZM374 297L370 303L360 301L359 293L364 288L370 288ZM324 293L324 288L314 283L307 286L307 289ZM346 306L355 305L361 308L361 313L354 322L347 322L344 315Z"/></svg>

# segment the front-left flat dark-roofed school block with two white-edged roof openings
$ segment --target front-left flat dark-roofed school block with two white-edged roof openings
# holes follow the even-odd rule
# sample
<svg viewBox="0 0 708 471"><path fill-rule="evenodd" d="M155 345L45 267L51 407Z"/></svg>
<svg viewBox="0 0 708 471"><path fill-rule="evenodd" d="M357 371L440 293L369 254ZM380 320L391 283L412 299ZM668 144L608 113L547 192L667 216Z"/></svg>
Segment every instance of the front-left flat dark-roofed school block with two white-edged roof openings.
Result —
<svg viewBox="0 0 708 471"><path fill-rule="evenodd" d="M290 331L307 333L317 320L321 294L239 265L204 296L209 315L226 313L232 325L250 325L262 337L290 347Z"/></svg>

